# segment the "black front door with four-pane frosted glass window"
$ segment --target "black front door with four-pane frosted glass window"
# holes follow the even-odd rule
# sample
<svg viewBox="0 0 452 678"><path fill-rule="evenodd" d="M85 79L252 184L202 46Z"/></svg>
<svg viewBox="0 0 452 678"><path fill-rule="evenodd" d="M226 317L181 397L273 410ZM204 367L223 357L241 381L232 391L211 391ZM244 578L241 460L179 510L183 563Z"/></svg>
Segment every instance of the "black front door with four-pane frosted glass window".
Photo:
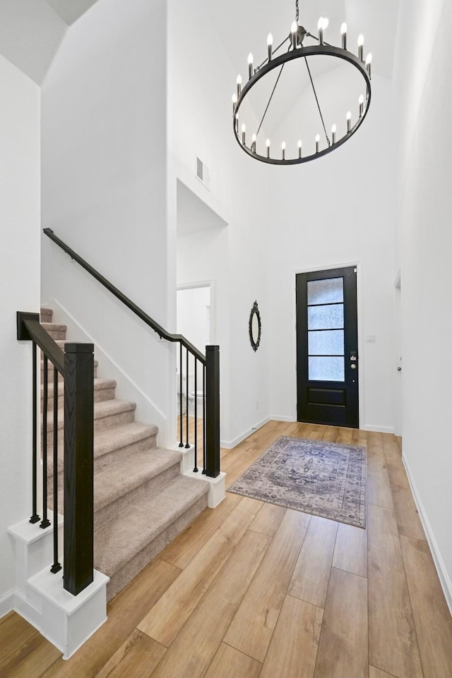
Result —
<svg viewBox="0 0 452 678"><path fill-rule="evenodd" d="M297 420L359 427L354 266L297 274Z"/></svg>

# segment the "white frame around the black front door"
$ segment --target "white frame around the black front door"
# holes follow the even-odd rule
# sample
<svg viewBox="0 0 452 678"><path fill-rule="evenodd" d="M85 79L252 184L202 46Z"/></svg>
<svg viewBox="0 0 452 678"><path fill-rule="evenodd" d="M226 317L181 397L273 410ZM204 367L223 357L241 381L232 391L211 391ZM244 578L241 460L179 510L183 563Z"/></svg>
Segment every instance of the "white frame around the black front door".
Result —
<svg viewBox="0 0 452 678"><path fill-rule="evenodd" d="M356 291L357 291L357 320L358 320L358 411L359 411L359 428L364 427L364 339L362 333L362 262L348 261L344 263L325 264L317 266L309 266L309 268L302 268L292 270L291 285L292 285L292 402L293 411L295 412L293 421L297 421L297 274L299 273L314 273L321 271L334 270L336 268L347 268L354 266L356 268Z"/></svg>

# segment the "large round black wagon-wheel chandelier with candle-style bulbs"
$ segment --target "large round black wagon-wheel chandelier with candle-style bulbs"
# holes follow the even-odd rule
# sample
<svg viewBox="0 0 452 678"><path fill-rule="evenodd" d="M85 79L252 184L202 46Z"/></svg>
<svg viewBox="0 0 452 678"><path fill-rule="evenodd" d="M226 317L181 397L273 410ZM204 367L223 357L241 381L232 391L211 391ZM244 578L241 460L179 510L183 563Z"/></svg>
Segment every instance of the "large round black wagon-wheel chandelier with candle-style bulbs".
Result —
<svg viewBox="0 0 452 678"><path fill-rule="evenodd" d="M256 160L261 160L261 162L267 162L270 164L276 165L291 165L291 164L300 164L302 162L308 162L309 160L314 160L316 158L322 157L327 153L335 150L339 146L343 145L345 141L350 139L350 137L355 134L359 126L364 121L364 118L367 115L369 110L369 104L371 99L371 54L367 54L366 59L364 60L364 37L359 35L357 40L357 55L353 54L347 49L347 25L345 23L340 27L341 33L341 46L335 47L332 44L329 44L324 39L324 33L328 28L328 19L320 17L319 23L317 25L317 35L312 35L309 30L304 28L304 26L299 25L299 8L298 0L295 2L295 21L292 23L290 28L290 34L285 37L283 42L281 42L278 47L273 49L273 36L271 33L268 34L267 38L267 57L259 65L254 67L254 57L249 54L248 56L248 79L246 83L243 84L242 76L237 75L237 92L234 92L232 95L232 115L233 115L233 125L234 125L234 135L237 139L242 150L244 150L248 155L255 158ZM311 44L304 44L308 40L311 41ZM283 48L286 48L283 51ZM280 52L281 50L281 52ZM279 54L278 54L279 53ZM358 78L361 85L361 93L357 98L355 104L350 104L350 109L345 113L342 124L333 123L331 126L331 138L328 135L326 130L326 122L324 111L321 107L321 102L319 102L319 96L314 85L314 78L309 67L309 61L311 57L314 56L325 56L333 57L340 61L335 61L334 63L343 64L346 63L348 66L353 67L352 71L354 73L359 73L362 76L362 80ZM313 138L310 140L302 138L294 138L292 141L288 140L289 143L286 144L286 141L283 141L280 145L278 151L273 152L273 147L270 143L270 138L259 138L259 132L263 121L270 107L270 102L275 95L278 83L280 81L280 76L283 73L283 70L286 64L294 59L304 59L304 63L307 69L307 76L309 86L312 89L313 97L315 100L315 108L319 114L318 125L319 129L323 129L323 134L320 133L313 135ZM301 62L300 62L301 63ZM354 71L356 69L356 71ZM255 124L255 131L252 135L247 134L246 123L240 118L240 109L242 104L244 104L246 98L249 98L249 93L255 85L273 71L279 71L278 76L275 81L273 90L271 91L268 102L266 103L265 110L261 117L260 123ZM350 68L348 69L350 70ZM243 86L242 86L243 85ZM296 83L294 83L296 86ZM277 98L277 97L276 97ZM352 111L354 111L352 113ZM339 121L337 121L339 122ZM250 126L248 126L248 129ZM299 134L302 134L301 123Z"/></svg>

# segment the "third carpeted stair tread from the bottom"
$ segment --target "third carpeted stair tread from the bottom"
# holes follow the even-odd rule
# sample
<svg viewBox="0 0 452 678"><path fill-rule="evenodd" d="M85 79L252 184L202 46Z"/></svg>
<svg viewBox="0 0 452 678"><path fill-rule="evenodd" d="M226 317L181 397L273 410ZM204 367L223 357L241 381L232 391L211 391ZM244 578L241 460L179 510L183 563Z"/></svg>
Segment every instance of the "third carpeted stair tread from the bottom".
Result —
<svg viewBox="0 0 452 678"><path fill-rule="evenodd" d="M121 454L116 456L112 452L121 451L124 448L133 445L145 447L146 450L155 449L155 437L158 428L155 424L143 424L139 421L131 421L128 424L119 424L107 428L105 431L94 432L94 473L100 472L105 466L119 463L121 461ZM153 438L153 440L150 440ZM141 452L141 449L139 450ZM135 452L132 452L135 454ZM102 457L107 457L109 461L102 461ZM100 463L97 463L100 462ZM49 455L47 461L47 476L52 476L53 460L52 455ZM97 467L98 470L97 470ZM63 444L58 446L58 473L63 472Z"/></svg>

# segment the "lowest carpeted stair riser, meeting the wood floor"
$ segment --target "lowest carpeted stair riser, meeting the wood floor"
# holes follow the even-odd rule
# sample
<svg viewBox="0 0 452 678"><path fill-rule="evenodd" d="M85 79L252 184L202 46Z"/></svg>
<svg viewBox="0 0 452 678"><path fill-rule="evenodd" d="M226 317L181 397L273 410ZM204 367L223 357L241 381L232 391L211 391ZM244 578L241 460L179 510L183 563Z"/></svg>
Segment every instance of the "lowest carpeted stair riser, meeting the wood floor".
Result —
<svg viewBox="0 0 452 678"><path fill-rule="evenodd" d="M112 600L114 595L119 593L119 591L122 591L129 581L132 581L133 577L138 572L141 572L143 567L150 563L170 541L182 533L206 507L207 495L204 495L188 511L185 511L182 516L179 516L177 520L169 525L166 530L162 531L147 547L129 560L124 567L112 574L107 584L107 602ZM96 560L94 561L94 567L97 568Z"/></svg>

